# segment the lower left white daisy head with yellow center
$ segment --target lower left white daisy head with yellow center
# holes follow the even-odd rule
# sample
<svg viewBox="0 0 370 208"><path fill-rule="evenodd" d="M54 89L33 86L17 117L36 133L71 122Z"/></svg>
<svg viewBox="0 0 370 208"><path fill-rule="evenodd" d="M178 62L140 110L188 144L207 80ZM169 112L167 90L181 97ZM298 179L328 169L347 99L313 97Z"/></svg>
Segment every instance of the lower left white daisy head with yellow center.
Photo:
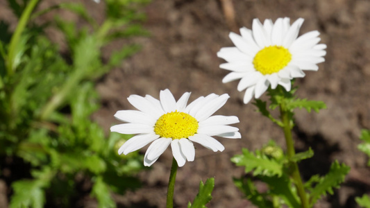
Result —
<svg viewBox="0 0 370 208"><path fill-rule="evenodd" d="M194 161L193 142L214 152L224 146L212 136L229 139L241 138L238 128L229 124L239 123L237 116L211 116L228 100L228 94L201 96L187 105L190 92L185 92L176 102L169 89L160 91L160 100L146 95L131 95L128 102L137 110L119 110L115 118L127 123L113 125L112 132L137 134L128 139L118 153L127 155L151 143L144 156L144 165L151 166L171 144L172 154L183 166Z"/></svg>

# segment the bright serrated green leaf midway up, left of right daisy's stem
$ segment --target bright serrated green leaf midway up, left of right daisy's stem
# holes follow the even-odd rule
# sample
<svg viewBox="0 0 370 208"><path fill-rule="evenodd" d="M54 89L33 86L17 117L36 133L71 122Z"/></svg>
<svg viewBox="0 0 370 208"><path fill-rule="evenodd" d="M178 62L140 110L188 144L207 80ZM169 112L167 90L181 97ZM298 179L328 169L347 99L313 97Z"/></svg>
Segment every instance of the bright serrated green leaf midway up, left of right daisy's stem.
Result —
<svg viewBox="0 0 370 208"><path fill-rule="evenodd" d="M274 159L269 159L260 150L256 150L255 154L243 148L243 155L235 155L231 158L237 166L245 166L245 172L253 171L253 175L282 175L283 166Z"/></svg>

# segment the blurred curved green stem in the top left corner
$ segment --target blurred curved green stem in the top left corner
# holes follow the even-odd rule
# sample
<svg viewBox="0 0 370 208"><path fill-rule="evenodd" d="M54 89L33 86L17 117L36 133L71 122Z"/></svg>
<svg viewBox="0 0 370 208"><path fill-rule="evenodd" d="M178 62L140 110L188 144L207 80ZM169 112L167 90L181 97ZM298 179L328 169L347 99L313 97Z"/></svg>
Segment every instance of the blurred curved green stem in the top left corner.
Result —
<svg viewBox="0 0 370 208"><path fill-rule="evenodd" d="M24 9L24 12L22 13L21 18L19 19L17 28L15 28L15 32L12 35L12 39L10 40L9 44L9 51L8 51L8 59L6 62L6 69L8 70L8 75L12 75L14 73L13 64L15 60L15 53L17 51L17 44L19 44L19 39L22 35L22 32L24 31L24 28L26 28L26 24L28 22L28 19L30 18L31 12L33 8L35 8L38 0L31 0L26 8Z"/></svg>

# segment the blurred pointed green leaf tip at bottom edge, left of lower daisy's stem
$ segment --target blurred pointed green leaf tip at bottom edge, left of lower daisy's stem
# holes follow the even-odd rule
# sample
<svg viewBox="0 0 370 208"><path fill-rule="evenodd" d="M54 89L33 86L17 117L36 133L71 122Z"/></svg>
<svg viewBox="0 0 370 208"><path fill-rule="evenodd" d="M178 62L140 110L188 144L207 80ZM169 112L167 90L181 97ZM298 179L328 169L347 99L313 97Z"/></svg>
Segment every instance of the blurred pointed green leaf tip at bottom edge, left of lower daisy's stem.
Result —
<svg viewBox="0 0 370 208"><path fill-rule="evenodd" d="M115 208L115 201L110 196L108 184L103 181L101 176L96 177L94 186L92 187L91 196L95 197L99 202L99 208Z"/></svg>

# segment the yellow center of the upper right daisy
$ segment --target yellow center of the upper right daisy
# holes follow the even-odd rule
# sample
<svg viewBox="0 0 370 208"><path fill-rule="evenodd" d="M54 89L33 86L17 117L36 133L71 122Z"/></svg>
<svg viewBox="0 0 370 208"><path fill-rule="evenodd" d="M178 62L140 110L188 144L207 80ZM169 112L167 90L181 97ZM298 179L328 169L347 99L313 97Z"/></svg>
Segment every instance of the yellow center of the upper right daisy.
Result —
<svg viewBox="0 0 370 208"><path fill-rule="evenodd" d="M292 60L292 54L283 46L264 47L253 59L254 68L263 75L276 73Z"/></svg>

